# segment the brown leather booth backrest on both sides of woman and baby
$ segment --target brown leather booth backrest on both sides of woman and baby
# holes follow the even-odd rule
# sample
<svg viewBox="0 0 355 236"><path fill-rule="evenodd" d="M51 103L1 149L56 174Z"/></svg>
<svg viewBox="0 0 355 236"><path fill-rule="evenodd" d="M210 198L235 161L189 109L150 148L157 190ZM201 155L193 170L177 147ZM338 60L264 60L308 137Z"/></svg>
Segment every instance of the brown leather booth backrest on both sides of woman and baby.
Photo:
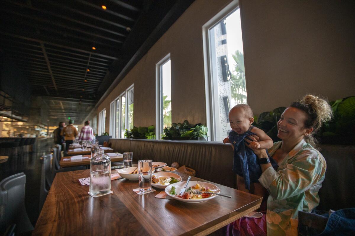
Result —
<svg viewBox="0 0 355 236"><path fill-rule="evenodd" d="M110 139L117 152L133 152L134 160L151 159L171 165L178 162L195 169L198 178L237 188L233 149L229 144L203 141ZM326 178L319 191L318 209L337 210L355 206L355 145L321 145L327 162Z"/></svg>

